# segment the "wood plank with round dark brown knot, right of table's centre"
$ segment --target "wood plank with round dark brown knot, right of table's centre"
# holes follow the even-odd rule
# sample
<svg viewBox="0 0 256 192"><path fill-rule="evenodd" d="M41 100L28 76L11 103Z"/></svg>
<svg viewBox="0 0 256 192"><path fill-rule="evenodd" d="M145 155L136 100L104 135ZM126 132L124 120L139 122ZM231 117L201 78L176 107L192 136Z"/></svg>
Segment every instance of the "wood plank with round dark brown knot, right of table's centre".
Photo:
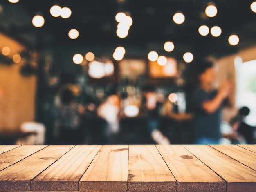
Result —
<svg viewBox="0 0 256 192"><path fill-rule="evenodd" d="M156 147L177 180L177 191L225 192L225 181L183 146L156 145Z"/></svg>

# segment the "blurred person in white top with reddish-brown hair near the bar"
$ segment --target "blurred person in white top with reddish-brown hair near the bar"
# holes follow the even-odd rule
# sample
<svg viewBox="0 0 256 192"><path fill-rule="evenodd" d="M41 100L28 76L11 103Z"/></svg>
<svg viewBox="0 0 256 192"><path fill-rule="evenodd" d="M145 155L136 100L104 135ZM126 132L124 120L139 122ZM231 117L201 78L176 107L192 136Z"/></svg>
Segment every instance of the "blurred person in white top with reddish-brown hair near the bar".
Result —
<svg viewBox="0 0 256 192"><path fill-rule="evenodd" d="M107 123L103 130L106 143L116 143L118 141L120 108L121 100L119 96L112 93L106 97L97 109L97 115Z"/></svg>

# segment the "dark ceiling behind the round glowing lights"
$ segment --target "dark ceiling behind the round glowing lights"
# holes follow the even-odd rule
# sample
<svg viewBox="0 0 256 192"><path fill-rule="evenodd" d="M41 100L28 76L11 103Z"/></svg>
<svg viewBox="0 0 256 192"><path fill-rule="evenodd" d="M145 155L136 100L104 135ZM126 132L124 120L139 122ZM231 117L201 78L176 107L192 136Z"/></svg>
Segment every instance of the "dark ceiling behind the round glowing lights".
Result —
<svg viewBox="0 0 256 192"><path fill-rule="evenodd" d="M204 13L209 2L214 2L218 9L213 18ZM179 60L188 51L198 58L218 58L256 44L256 13L250 9L252 2L253 0L20 0L17 5L22 6L31 17L40 13L45 18L45 25L34 29L41 36L48 34L53 37L42 40L40 43L43 47L91 46L114 51L114 47L124 46L130 50L126 51L125 57L157 51ZM72 10L70 18L52 17L49 9L54 4L69 7ZM130 14L133 19L126 38L118 38L116 35L115 15L119 11ZM181 25L175 24L172 19L178 11L185 16L185 22ZM219 37L213 37L210 33L201 36L198 33L200 25L207 25L209 28L220 26L222 34ZM79 31L79 37L75 40L67 36L68 31L73 28ZM18 28L12 26L10 30L16 33ZM239 36L238 45L229 45L228 37L231 34ZM164 51L166 41L175 44L174 51Z"/></svg>

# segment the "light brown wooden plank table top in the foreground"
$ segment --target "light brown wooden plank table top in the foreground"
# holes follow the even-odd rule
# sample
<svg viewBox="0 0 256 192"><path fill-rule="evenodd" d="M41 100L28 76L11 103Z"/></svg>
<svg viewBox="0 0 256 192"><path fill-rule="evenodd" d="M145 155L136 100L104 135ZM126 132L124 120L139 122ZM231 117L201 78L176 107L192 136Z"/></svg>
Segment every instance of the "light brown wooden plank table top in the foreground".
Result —
<svg viewBox="0 0 256 192"><path fill-rule="evenodd" d="M256 192L256 145L0 145L0 191Z"/></svg>

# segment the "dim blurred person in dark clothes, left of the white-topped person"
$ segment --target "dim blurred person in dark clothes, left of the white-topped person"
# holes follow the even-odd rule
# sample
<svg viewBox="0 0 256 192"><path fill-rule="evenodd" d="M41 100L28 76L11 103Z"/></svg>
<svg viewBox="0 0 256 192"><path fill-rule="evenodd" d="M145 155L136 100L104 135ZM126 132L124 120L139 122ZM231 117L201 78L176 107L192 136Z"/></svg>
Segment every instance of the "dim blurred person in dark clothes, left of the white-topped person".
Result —
<svg viewBox="0 0 256 192"><path fill-rule="evenodd" d="M81 114L84 108L75 100L72 90L66 88L60 92L60 104L56 118L56 135L63 144L82 142Z"/></svg>

